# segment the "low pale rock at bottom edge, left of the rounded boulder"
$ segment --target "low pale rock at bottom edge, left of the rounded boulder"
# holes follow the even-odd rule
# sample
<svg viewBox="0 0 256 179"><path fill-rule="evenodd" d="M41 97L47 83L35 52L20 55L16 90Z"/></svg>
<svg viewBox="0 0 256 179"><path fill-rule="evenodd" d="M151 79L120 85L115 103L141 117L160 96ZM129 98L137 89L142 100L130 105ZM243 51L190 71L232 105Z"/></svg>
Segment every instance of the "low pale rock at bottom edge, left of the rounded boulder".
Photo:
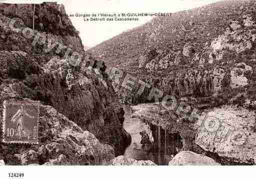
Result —
<svg viewBox="0 0 256 179"><path fill-rule="evenodd" d="M114 166L156 166L152 161L137 161L135 159L125 159L124 156L118 156L112 161Z"/></svg>

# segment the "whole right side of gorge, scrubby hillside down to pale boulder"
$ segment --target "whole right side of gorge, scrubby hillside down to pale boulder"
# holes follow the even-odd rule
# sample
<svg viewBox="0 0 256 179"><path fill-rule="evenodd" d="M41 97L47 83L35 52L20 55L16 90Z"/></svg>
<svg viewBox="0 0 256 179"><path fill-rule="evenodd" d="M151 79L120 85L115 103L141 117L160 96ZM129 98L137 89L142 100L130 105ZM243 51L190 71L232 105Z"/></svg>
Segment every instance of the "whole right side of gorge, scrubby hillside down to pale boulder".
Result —
<svg viewBox="0 0 256 179"><path fill-rule="evenodd" d="M161 90L159 99L176 98L173 110L154 104L134 107L134 117L149 122L155 139L152 148L161 158L167 151L176 155L185 150L222 165L255 164L255 148L250 147L256 124L255 9L255 0L220 1L153 18L90 49L106 64L124 71L112 81L121 102L153 102L148 98L153 87ZM130 78L134 81L130 90L122 85L128 73L135 77ZM142 93L140 80L148 84ZM190 106L183 109L188 110L185 117L176 113L181 103ZM194 108L197 120L190 121ZM218 129L195 128L209 116L218 119ZM241 138L246 141L243 145L235 145L232 135L222 141L227 138L223 131L227 125L247 136ZM172 144L166 144L168 137ZM170 148L173 144L177 149Z"/></svg>

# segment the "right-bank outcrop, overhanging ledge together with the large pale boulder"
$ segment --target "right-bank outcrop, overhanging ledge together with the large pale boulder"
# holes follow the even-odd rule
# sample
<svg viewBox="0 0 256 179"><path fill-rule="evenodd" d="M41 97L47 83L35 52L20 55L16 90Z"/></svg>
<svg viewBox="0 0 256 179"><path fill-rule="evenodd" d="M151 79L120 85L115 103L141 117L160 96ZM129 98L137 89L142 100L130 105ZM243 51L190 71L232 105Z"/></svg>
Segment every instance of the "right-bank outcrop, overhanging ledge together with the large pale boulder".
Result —
<svg viewBox="0 0 256 179"><path fill-rule="evenodd" d="M255 164L256 114L253 111L225 105L196 113L188 111L181 116L179 108L166 110L156 104L140 104L133 106L133 110L135 116L151 126L154 150L160 151L162 156L177 154L169 147L171 144L178 152L201 154L221 165ZM177 134L181 139L174 142Z"/></svg>

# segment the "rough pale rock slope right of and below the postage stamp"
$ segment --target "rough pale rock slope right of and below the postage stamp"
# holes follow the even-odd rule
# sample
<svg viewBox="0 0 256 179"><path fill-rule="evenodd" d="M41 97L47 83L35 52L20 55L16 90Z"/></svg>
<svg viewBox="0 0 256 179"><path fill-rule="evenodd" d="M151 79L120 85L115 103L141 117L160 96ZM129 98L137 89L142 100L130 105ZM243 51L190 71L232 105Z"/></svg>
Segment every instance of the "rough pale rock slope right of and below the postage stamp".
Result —
<svg viewBox="0 0 256 179"><path fill-rule="evenodd" d="M40 104L39 145L4 145L1 153L11 165L102 165L114 159L111 146L100 143L96 137L83 131L51 106ZM10 155L10 152L14 154Z"/></svg>

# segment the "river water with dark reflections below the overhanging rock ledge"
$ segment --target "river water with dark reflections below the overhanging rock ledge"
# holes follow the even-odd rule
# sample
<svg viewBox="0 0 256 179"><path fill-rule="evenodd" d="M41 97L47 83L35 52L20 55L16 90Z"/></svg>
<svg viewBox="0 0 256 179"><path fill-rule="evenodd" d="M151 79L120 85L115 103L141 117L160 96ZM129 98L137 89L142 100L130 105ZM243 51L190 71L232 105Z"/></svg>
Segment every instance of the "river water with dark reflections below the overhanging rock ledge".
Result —
<svg viewBox="0 0 256 179"><path fill-rule="evenodd" d="M133 113L129 106L123 106L125 120L123 127L131 135L131 145L127 147L124 157L126 159L150 160L158 165L168 165L172 157L177 154L177 148L182 148L181 138L178 134L170 134L159 126L147 125L139 118L131 118ZM146 152L142 148L141 132L151 133L153 138L152 150Z"/></svg>

